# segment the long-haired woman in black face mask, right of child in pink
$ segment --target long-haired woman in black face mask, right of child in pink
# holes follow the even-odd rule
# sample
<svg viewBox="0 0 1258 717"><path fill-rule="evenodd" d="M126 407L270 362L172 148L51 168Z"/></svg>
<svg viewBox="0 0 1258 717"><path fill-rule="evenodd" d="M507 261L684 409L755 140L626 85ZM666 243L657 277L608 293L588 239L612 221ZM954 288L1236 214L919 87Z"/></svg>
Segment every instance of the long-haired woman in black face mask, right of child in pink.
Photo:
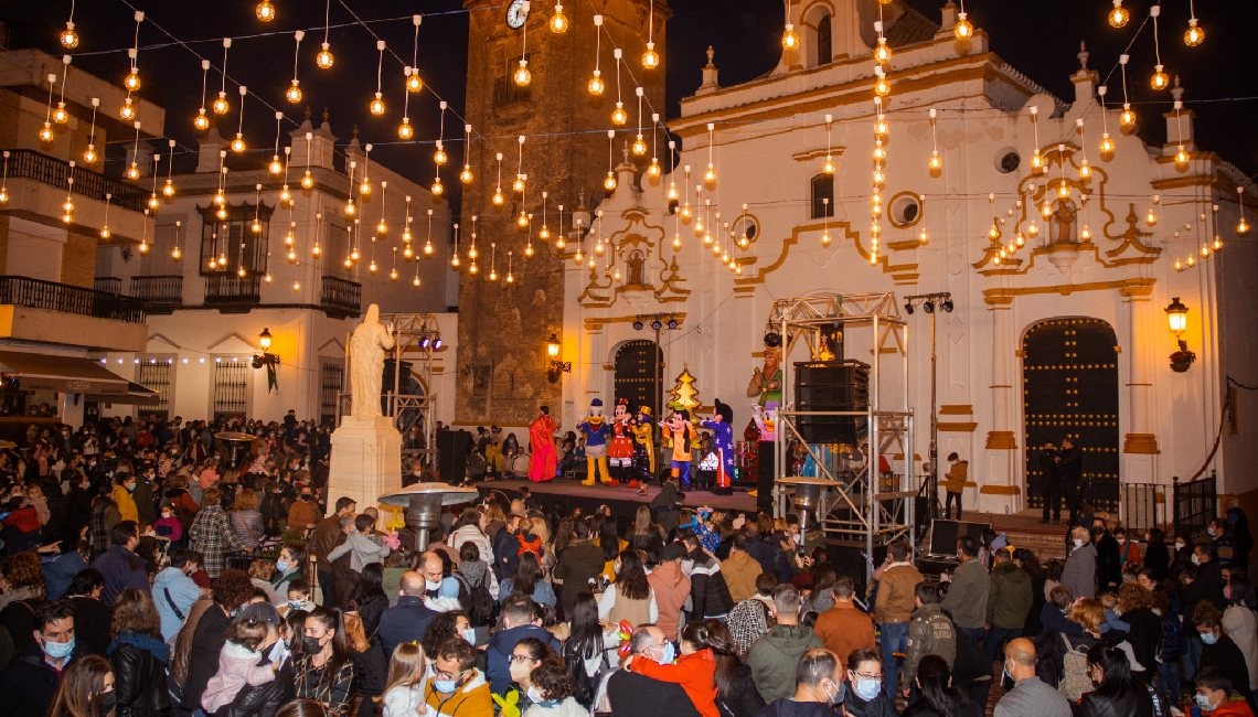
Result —
<svg viewBox="0 0 1258 717"><path fill-rule="evenodd" d="M345 643L341 613L318 606L306 618L302 650L293 668L297 697L323 703L328 714L345 714L353 694L353 662Z"/></svg>

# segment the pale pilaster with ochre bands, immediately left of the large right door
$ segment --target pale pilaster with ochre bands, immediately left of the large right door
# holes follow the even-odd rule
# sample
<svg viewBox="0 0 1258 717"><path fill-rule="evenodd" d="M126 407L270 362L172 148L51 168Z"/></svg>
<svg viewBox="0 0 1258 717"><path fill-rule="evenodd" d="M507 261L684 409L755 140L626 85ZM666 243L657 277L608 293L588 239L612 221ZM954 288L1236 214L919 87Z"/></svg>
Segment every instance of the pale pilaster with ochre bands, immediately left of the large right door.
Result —
<svg viewBox="0 0 1258 717"><path fill-rule="evenodd" d="M991 430L988 431L988 460L984 475L979 475L979 507L1000 512L1008 506L1016 508L1015 496L1021 491L1014 483L1014 459L1018 457L1018 439L1014 431L1014 346L1013 297L985 297L991 313Z"/></svg>

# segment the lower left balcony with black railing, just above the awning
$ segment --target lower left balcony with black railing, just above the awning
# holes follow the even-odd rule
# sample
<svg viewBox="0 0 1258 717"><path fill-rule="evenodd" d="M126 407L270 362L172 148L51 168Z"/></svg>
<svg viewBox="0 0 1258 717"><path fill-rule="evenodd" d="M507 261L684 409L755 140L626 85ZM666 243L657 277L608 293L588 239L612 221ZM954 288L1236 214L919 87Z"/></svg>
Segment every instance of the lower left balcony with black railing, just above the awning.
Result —
<svg viewBox="0 0 1258 717"><path fill-rule="evenodd" d="M0 338L140 351L145 308L113 292L0 275Z"/></svg>

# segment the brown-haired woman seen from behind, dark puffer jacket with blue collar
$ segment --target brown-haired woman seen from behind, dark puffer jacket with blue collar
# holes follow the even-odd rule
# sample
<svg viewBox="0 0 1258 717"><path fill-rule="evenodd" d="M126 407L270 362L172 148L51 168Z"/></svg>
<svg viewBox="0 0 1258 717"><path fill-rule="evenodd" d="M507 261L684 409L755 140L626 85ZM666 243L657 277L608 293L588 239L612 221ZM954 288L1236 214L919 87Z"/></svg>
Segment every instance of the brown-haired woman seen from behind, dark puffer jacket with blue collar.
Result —
<svg viewBox="0 0 1258 717"><path fill-rule="evenodd" d="M170 713L166 665L170 648L161 638L161 616L147 592L127 587L113 604L113 642L106 654L113 663L118 711L128 717Z"/></svg>

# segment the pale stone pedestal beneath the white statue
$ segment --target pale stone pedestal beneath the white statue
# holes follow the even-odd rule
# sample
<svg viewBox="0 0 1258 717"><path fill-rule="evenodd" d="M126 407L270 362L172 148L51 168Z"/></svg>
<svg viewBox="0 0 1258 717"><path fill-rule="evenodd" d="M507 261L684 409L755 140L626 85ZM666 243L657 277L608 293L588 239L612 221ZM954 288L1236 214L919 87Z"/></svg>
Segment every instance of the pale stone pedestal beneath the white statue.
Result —
<svg viewBox="0 0 1258 717"><path fill-rule="evenodd" d="M332 431L327 509L348 496L359 512L380 507L380 496L401 489L401 434L387 416L346 416ZM381 509L381 518L387 511Z"/></svg>

